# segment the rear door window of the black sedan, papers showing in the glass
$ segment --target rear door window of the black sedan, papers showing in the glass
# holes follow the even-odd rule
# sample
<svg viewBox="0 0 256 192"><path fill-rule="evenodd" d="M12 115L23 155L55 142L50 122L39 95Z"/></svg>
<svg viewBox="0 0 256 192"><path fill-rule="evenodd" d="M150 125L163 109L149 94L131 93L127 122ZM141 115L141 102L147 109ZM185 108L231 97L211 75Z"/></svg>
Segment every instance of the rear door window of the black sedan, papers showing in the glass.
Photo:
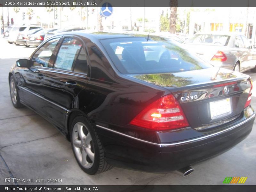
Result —
<svg viewBox="0 0 256 192"><path fill-rule="evenodd" d="M82 43L73 38L65 38L60 46L53 68L71 70Z"/></svg>

